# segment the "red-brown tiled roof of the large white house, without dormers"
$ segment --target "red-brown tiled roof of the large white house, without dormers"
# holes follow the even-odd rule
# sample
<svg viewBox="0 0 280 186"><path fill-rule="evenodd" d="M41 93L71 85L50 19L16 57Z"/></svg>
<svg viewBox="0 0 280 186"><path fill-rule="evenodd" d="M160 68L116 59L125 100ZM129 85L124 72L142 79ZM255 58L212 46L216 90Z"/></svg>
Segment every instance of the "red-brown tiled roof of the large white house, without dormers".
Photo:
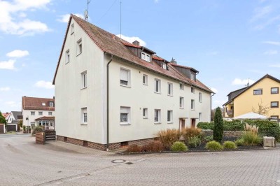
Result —
<svg viewBox="0 0 280 186"><path fill-rule="evenodd" d="M127 62L130 62L132 64L135 64L137 66L144 67L146 69L149 69L151 71L154 71L155 73L160 73L162 76L168 76L169 78L174 78L176 80L179 80L183 83L190 84L187 80L187 78L183 78L181 73L177 73L177 71L174 71L174 69L170 68L169 71L162 69L157 64L148 63L143 59L140 59L134 53L128 49L124 43L129 43L127 41L124 41L123 39L120 40L118 36L115 36L114 34L109 33L108 31L105 31L104 29L100 29L99 27L90 24L89 22L86 22L85 20L81 19L80 17L77 17L76 15L70 16L68 27L66 30L64 43L62 45L62 50L60 52L59 61L57 64L57 69L59 66L60 58L62 56L62 51L64 48L64 44L66 41L67 32L69 30L69 24L71 22L71 19L75 20L80 27L85 31L85 33L92 39L92 41L103 51L108 53L109 55L113 55L114 57L121 58ZM128 44L127 44L128 45ZM55 71L55 77L57 74L57 69ZM52 84L55 84L55 77L52 81ZM206 87L206 86L205 86ZM204 89L205 90L205 89ZM208 92L212 92L209 89L206 89Z"/></svg>

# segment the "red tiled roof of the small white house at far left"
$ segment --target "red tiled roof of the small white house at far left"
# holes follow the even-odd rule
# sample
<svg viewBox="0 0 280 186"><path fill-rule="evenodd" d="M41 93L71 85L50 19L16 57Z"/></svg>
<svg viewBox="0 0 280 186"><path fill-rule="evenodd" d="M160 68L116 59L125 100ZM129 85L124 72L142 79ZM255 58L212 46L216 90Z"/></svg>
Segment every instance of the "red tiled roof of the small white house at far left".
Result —
<svg viewBox="0 0 280 186"><path fill-rule="evenodd" d="M54 106L50 106L50 102L54 103ZM25 109L25 110L55 110L55 99L23 96L22 97L22 109Z"/></svg>

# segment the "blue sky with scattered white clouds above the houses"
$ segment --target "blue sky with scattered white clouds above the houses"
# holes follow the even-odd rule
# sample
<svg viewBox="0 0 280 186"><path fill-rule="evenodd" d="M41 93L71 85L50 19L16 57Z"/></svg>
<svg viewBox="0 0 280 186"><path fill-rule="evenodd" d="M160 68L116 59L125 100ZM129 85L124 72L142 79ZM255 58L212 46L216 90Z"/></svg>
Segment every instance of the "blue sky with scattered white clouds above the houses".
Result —
<svg viewBox="0 0 280 186"><path fill-rule="evenodd" d="M200 71L216 95L266 73L280 78L278 0L122 0L122 34L165 59ZM21 110L22 96L52 97L51 85L69 13L86 0L0 0L0 110ZM92 0L90 22L120 34L120 0Z"/></svg>

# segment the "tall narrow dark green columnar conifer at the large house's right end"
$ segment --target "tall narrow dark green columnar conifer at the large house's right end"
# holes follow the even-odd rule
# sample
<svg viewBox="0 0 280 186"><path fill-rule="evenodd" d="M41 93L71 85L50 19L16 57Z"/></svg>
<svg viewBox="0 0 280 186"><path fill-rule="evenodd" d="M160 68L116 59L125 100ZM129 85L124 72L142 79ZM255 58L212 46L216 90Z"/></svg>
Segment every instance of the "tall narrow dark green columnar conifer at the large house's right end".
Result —
<svg viewBox="0 0 280 186"><path fill-rule="evenodd" d="M213 139L218 142L223 140L223 116L220 107L216 108L215 112Z"/></svg>

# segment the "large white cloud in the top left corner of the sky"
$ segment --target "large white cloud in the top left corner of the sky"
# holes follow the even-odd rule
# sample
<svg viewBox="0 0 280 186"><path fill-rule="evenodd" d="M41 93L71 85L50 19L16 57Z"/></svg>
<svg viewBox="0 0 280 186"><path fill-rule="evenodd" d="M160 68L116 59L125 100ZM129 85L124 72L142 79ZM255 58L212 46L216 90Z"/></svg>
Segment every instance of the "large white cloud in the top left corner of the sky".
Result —
<svg viewBox="0 0 280 186"><path fill-rule="evenodd" d="M33 35L50 31L45 23L27 19L25 12L46 8L51 0L0 0L0 31L6 34ZM22 20L24 18L24 20Z"/></svg>

